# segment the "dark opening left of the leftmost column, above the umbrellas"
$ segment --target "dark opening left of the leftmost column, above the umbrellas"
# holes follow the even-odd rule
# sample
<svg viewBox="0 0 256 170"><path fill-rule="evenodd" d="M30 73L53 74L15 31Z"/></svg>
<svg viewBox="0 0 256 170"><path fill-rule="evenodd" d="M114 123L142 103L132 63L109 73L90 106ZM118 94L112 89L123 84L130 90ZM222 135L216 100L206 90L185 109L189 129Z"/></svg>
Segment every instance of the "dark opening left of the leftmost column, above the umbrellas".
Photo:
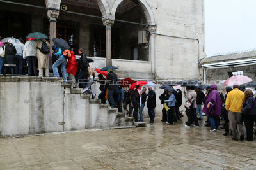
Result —
<svg viewBox="0 0 256 170"><path fill-rule="evenodd" d="M45 8L45 0L12 0L10 2L31 4ZM25 39L29 32L44 32L45 9L21 6L19 4L0 3L0 36ZM47 32L45 32L47 33Z"/></svg>

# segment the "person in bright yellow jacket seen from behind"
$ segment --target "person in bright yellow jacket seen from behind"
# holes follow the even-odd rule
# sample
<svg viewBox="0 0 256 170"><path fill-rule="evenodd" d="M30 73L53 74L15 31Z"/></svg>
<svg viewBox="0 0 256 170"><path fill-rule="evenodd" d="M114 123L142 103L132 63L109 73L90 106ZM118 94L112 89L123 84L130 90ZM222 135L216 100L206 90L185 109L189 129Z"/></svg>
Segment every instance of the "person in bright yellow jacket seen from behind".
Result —
<svg viewBox="0 0 256 170"><path fill-rule="evenodd" d="M244 139L244 132L242 129L242 113L241 109L245 102L244 92L240 91L238 84L233 85L233 90L228 92L226 99L226 110L228 111L228 118L230 122L231 131L233 134L233 140L238 141L237 139L237 130L240 134L240 140ZM237 129L236 129L237 125Z"/></svg>

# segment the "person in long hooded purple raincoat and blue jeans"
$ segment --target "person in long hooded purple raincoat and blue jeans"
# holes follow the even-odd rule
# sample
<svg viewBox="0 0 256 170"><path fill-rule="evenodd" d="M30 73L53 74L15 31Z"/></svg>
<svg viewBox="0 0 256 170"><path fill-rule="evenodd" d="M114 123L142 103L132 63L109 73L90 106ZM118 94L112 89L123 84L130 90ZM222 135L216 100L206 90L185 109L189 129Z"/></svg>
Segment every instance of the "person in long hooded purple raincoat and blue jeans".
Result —
<svg viewBox="0 0 256 170"><path fill-rule="evenodd" d="M218 131L219 116L221 115L222 101L220 93L217 91L217 85L211 86L211 94L207 97L203 112L209 116L211 122L211 132Z"/></svg>

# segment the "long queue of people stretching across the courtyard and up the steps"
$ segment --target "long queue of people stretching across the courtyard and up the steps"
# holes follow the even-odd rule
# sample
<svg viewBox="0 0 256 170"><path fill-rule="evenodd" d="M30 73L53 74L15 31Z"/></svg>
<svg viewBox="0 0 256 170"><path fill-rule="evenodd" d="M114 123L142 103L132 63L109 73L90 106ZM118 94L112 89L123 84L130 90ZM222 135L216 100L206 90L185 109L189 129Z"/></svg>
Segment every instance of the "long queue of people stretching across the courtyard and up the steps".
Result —
<svg viewBox="0 0 256 170"><path fill-rule="evenodd" d="M44 48L50 48L50 43L47 39L28 38L26 43L23 39L20 40L19 46L14 46L13 41L7 41L2 46L0 53L0 74L2 66L4 66L3 74L8 71L11 75L22 74L23 59L26 59L28 66L28 76L49 76L49 52L45 53ZM78 53L81 55L76 59L75 53L70 52L70 56L63 55L63 50L56 45L52 48L52 73L54 77L63 77L63 81L67 83L68 78L72 88L83 88L83 93L92 94L95 98L96 94L92 91L91 85L95 79L95 71L90 67L90 62L84 53L83 48L79 48ZM4 53L3 53L4 49ZM46 49L46 51L49 49ZM119 83L117 75L113 69L107 70L108 74L104 78L103 74L98 74L100 80L101 103L110 104L111 108L122 107L127 115L134 117L135 122L143 122L143 109L147 103L148 116L150 123L155 121L156 92L152 87L148 86L141 89L140 85L131 89L131 83L128 83L126 90L123 90ZM253 140L253 125L256 118L256 101L253 97L252 90L246 90L244 85L234 84L233 87L227 87L227 94L223 96L217 90L216 85L206 87L206 93L193 85L186 86L186 91L183 92L185 103L183 103L182 87L178 85L175 89L172 86L163 88L164 92L159 96L162 109L162 120L168 125L174 124L175 121L183 117L180 113L180 107L184 104L185 113L188 117L185 127L199 127L198 120L202 120L202 113L207 115L207 127L211 127L211 132L218 131L220 120L223 119L225 124L222 129L225 129L225 136L232 135L232 139L241 141L244 140L243 122L246 127L246 136L248 141ZM203 109L202 109L202 105ZM120 108L121 107L121 108ZM138 117L139 115L139 117ZM199 115L199 118L198 118ZM221 117L221 119L220 119ZM230 127L230 128L229 128ZM239 136L238 136L239 134Z"/></svg>

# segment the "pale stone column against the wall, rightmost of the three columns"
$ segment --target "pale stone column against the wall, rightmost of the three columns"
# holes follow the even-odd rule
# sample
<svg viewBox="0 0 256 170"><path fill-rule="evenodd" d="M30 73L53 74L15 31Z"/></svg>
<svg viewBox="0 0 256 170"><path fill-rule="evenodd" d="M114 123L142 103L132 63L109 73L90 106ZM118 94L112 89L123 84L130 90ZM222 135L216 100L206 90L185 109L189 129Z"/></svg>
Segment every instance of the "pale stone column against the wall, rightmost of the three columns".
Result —
<svg viewBox="0 0 256 170"><path fill-rule="evenodd" d="M156 73L157 71L157 57L156 57L156 25L150 25L148 27L149 37L149 60L151 62L151 73ZM156 75L155 75L156 76Z"/></svg>

